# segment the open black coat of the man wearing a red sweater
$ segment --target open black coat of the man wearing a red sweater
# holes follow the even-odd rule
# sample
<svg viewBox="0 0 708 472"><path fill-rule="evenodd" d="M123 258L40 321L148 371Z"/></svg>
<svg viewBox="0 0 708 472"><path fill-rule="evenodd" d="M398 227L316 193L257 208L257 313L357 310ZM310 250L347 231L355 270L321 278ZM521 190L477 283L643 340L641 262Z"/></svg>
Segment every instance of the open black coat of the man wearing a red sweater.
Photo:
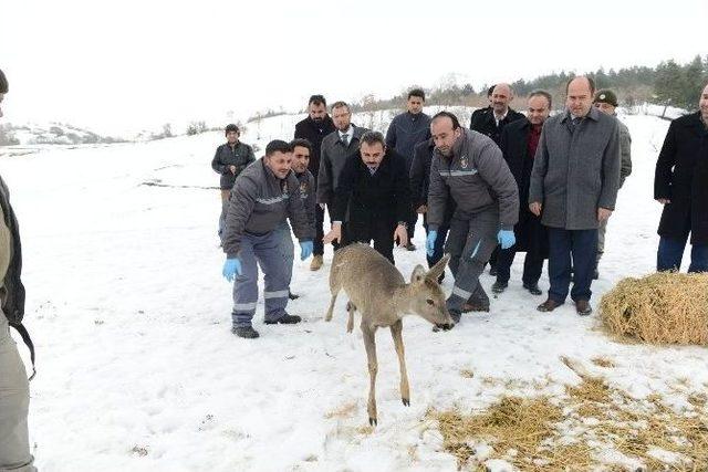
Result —
<svg viewBox="0 0 708 472"><path fill-rule="evenodd" d="M529 185L533 170L533 156L529 154L531 123L524 117L507 125L501 133L499 147L519 186L519 222L514 225L518 252L534 252L548 258L548 230L541 224L541 217L529 210Z"/></svg>

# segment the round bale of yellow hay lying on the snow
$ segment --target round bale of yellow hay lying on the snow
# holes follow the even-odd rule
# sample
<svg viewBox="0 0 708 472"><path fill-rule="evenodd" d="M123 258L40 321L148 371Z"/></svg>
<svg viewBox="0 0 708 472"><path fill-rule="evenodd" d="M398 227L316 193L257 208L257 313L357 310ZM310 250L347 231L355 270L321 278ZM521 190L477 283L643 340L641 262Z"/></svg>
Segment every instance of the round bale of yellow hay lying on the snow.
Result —
<svg viewBox="0 0 708 472"><path fill-rule="evenodd" d="M708 345L708 273L627 277L600 303L605 329L652 344Z"/></svg>

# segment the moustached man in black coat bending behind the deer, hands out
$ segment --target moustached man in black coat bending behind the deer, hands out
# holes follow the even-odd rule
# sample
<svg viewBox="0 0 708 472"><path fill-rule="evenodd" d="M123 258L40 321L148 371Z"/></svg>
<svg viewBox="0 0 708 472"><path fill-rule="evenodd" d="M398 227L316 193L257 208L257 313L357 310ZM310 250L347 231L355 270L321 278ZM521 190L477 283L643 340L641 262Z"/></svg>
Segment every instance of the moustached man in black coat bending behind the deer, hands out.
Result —
<svg viewBox="0 0 708 472"><path fill-rule="evenodd" d="M394 263L394 241L406 245L406 218L410 208L406 162L387 148L384 135L366 132L360 150L347 157L334 189L332 231L325 243L371 243ZM344 229L342 224L344 223Z"/></svg>

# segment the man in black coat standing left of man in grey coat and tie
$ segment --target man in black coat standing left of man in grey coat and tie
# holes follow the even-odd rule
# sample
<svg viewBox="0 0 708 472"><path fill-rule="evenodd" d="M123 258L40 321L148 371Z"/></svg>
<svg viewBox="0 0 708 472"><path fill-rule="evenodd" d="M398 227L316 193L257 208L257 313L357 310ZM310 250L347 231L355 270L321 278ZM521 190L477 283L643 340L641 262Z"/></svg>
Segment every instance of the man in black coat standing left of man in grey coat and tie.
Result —
<svg viewBox="0 0 708 472"><path fill-rule="evenodd" d="M334 122L330 115L327 115L327 103L322 95L312 95L308 103L308 117L295 125L295 139L308 139L312 145L312 153L310 154L310 164L308 169L314 176L315 188L317 183L317 175L320 172L320 146L322 139L335 130ZM324 254L324 244L322 244L322 238L324 231L322 229L324 224L324 207L316 206L314 210L315 216L315 239L313 258L310 269L317 270L322 266L322 254Z"/></svg>

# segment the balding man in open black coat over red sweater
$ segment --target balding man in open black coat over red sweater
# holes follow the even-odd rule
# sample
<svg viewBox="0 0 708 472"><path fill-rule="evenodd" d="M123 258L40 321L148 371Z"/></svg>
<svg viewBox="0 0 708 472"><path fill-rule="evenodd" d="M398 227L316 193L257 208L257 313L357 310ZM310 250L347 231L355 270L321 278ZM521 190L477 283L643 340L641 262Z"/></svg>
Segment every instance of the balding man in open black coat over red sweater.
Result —
<svg viewBox="0 0 708 472"><path fill-rule="evenodd" d="M529 210L529 182L533 169L533 157L541 138L543 122L551 113L551 95L537 91L529 96L528 118L518 119L504 127L501 134L501 151L519 186L519 222L513 231L517 243L499 251L497 258L497 282L491 286L494 293L503 292L509 285L511 263L517 252L525 251L523 262L523 287L533 295L541 295L539 279L543 271L543 260L548 258L548 231L541 218Z"/></svg>

